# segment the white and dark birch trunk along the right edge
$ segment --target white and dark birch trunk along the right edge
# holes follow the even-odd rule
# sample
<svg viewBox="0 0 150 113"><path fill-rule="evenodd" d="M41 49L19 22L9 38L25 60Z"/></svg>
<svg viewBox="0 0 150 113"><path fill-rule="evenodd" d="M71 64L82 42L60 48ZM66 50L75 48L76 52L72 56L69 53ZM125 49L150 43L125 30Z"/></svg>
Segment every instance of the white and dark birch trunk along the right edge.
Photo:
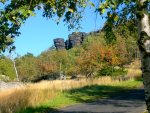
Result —
<svg viewBox="0 0 150 113"><path fill-rule="evenodd" d="M146 3L146 0L139 0L139 1L140 1L139 7L140 14L137 14L139 20L138 45L141 54L141 64L142 64L141 69L145 88L145 102L147 105L147 110L150 113L150 24L149 24L149 15L148 13L145 13L146 11L148 12L147 7L145 7L144 5Z"/></svg>

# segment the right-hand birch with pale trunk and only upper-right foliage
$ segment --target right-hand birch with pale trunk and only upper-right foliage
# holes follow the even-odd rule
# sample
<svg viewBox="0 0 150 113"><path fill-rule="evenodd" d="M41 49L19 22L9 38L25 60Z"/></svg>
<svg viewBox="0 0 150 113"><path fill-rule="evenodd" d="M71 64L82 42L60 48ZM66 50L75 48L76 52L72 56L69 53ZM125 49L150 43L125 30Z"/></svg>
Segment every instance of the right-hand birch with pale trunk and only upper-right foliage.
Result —
<svg viewBox="0 0 150 113"><path fill-rule="evenodd" d="M141 54L142 76L145 87L145 101L150 113L150 0L106 0L98 8L100 14L107 10L105 31L109 42L114 38L113 26L134 20L138 28L138 46ZM133 25L133 24L132 24ZM107 35L108 35L107 34ZM107 36L108 37L108 36ZM113 38L112 38L113 37Z"/></svg>

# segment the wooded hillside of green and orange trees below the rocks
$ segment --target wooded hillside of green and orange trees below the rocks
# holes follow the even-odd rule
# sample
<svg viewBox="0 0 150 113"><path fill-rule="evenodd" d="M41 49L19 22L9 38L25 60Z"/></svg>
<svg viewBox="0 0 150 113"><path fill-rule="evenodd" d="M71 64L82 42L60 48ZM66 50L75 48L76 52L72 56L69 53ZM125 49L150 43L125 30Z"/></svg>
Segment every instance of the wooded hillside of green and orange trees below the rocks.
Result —
<svg viewBox="0 0 150 113"><path fill-rule="evenodd" d="M125 34L125 33L124 33ZM40 81L78 77L125 75L124 65L138 58L134 34L116 32L113 43L108 44L102 31L89 33L81 45L69 50L50 47L35 57L32 53L15 59L21 81ZM0 75L15 80L13 62L4 56L0 58ZM1 78L0 78L1 79ZM64 79L64 78L62 78Z"/></svg>

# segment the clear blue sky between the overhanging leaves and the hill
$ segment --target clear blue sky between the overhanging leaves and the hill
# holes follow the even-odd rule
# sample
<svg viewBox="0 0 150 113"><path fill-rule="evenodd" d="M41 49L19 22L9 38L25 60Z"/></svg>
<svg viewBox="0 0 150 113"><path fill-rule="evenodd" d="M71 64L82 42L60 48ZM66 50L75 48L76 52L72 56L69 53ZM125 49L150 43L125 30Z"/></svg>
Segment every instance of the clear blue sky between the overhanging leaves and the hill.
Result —
<svg viewBox="0 0 150 113"><path fill-rule="evenodd" d="M105 19L97 16L92 9L86 9L81 22L82 29L79 31L90 32L102 28ZM27 52L33 53L35 56L53 45L54 38L68 38L74 30L68 31L67 26L63 22L59 25L51 19L42 17L42 12L30 17L20 28L21 35L15 39L15 52L19 55L25 55Z"/></svg>

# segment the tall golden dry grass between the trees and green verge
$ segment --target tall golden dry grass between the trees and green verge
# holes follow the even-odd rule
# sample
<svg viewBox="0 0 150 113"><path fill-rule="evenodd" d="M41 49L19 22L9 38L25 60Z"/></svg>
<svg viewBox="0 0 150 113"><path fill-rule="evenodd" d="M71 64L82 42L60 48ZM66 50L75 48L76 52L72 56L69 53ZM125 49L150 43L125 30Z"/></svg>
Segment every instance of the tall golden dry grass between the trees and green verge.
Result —
<svg viewBox="0 0 150 113"><path fill-rule="evenodd" d="M54 98L58 91L80 88L93 84L114 84L119 80L111 77L101 77L94 80L56 80L26 84L24 87L0 92L0 113L15 113L29 106L35 107L40 103Z"/></svg>

